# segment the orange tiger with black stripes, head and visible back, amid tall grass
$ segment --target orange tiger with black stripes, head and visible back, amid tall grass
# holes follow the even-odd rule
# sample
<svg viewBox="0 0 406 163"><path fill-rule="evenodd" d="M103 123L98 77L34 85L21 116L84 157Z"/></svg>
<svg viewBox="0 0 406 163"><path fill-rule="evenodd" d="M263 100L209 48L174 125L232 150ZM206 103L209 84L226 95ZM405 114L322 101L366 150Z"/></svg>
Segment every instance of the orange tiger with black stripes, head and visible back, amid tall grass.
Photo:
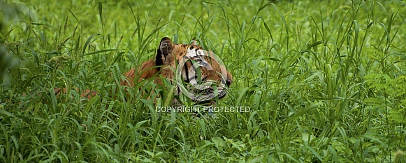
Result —
<svg viewBox="0 0 406 163"><path fill-rule="evenodd" d="M176 94L180 95L182 85L180 85L179 80L175 80L174 72L174 70L178 70L177 72L180 73L178 78L181 76L184 83L189 84L186 88L183 88L183 91L187 91L189 98L192 98L194 102L210 102L214 104L213 99L224 98L226 95L226 88L222 84L229 87L233 82L231 73L217 60L212 52L204 51L201 46L196 45L196 40L191 45L173 44L170 38L165 37L161 39L155 59L146 61L138 69L133 68L124 73L126 79L122 80L120 84L122 86L133 86L134 79L138 79L139 82L151 77L155 77L155 83L162 84L157 75L160 74L166 79L177 82ZM201 74L196 75L196 64L200 67ZM136 78L137 74L138 77ZM217 88L215 89L216 86L212 85L201 86L199 81L217 85Z"/></svg>

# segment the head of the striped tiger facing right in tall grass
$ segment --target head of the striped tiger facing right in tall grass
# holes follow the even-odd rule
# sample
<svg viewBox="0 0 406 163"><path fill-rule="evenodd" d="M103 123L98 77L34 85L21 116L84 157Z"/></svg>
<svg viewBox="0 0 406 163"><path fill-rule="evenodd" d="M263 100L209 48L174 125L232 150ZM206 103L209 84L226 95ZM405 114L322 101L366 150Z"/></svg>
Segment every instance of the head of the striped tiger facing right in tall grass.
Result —
<svg viewBox="0 0 406 163"><path fill-rule="evenodd" d="M221 59L203 50L195 41L191 45L173 44L171 39L162 38L155 63L161 65L162 77L176 81L178 95L180 91L187 92L185 95L194 101L224 98L226 87L233 82L233 76Z"/></svg>

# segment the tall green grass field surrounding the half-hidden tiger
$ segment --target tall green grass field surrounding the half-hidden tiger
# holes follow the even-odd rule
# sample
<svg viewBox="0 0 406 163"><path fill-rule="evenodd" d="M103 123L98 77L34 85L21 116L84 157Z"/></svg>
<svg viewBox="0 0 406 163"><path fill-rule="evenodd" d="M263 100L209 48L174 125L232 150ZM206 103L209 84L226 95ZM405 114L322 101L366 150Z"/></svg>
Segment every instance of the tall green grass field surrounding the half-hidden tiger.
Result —
<svg viewBox="0 0 406 163"><path fill-rule="evenodd" d="M405 14L394 0L0 2L0 162L405 162ZM115 81L165 36L220 56L234 82L217 106L251 111L157 113L165 97L139 88L168 92L150 81L124 102Z"/></svg>

